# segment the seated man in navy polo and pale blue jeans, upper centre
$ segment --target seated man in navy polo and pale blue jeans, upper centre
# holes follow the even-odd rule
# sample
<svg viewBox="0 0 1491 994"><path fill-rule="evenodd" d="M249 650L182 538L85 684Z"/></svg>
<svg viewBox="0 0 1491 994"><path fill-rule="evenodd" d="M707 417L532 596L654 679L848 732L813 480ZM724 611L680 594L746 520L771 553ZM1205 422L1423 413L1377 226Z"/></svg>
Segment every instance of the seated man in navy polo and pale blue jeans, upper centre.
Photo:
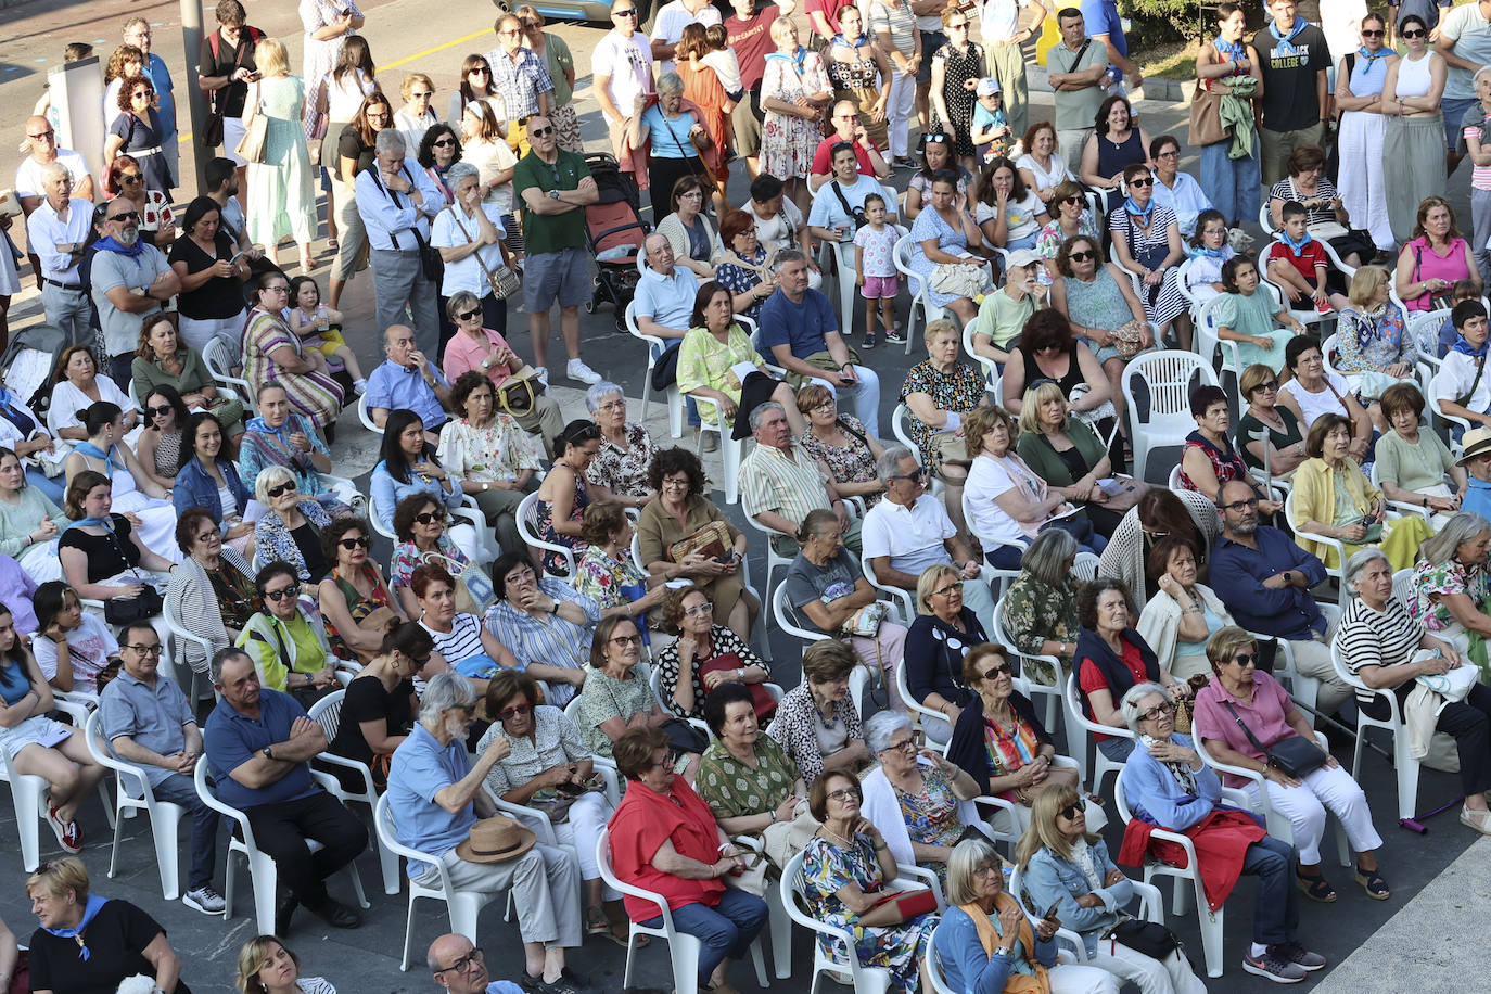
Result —
<svg viewBox="0 0 1491 994"><path fill-rule="evenodd" d="M854 392L854 416L880 438L880 377L859 365L859 353L844 343L833 306L808 286L808 258L796 249L777 253L777 292L760 306L760 347L787 370L793 389L808 380Z"/></svg>

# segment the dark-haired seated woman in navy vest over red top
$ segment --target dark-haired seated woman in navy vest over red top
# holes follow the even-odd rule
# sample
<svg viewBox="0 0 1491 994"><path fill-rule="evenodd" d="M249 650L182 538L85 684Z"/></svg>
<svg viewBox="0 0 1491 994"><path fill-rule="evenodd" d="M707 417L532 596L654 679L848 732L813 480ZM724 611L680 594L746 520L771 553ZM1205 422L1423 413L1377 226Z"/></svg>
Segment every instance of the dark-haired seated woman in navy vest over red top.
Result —
<svg viewBox="0 0 1491 994"><path fill-rule="evenodd" d="M1077 598L1077 684L1082 688L1082 711L1112 735L1093 733L1097 748L1111 760L1129 759L1133 733L1118 711L1129 688L1160 683L1160 660L1133 629L1133 601L1117 580L1099 577Z"/></svg>

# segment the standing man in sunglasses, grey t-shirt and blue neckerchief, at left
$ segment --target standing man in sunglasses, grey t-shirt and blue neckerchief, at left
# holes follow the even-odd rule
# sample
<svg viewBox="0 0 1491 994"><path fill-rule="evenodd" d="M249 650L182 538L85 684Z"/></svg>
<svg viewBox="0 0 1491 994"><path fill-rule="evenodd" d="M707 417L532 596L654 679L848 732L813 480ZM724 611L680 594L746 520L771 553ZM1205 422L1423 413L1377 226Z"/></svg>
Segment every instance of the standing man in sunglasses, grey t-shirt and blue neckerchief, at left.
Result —
<svg viewBox="0 0 1491 994"><path fill-rule="evenodd" d="M145 319L160 313L182 289L166 253L140 238L140 213L124 197L95 209L98 234L92 258L92 300L103 328L107 373L128 383Z"/></svg>

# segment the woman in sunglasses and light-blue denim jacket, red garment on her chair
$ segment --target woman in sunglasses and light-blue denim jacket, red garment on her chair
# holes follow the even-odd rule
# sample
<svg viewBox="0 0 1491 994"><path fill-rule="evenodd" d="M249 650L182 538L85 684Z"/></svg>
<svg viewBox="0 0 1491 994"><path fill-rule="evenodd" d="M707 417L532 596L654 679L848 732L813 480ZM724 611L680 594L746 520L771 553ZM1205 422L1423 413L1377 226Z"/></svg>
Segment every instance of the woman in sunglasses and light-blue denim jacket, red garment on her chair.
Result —
<svg viewBox="0 0 1491 994"><path fill-rule="evenodd" d="M1156 683L1129 688L1118 705L1138 747L1123 767L1123 791L1133 812L1118 861L1139 866L1147 855L1175 860L1182 849L1153 841L1154 829L1187 836L1196 846L1206 905L1223 906L1243 873L1258 878L1252 943L1242 969L1276 984L1297 984L1325 966L1300 945L1294 846L1270 836L1245 811L1221 803L1221 779L1202 762L1190 736L1175 730L1175 697ZM1184 858L1184 857L1181 857Z"/></svg>

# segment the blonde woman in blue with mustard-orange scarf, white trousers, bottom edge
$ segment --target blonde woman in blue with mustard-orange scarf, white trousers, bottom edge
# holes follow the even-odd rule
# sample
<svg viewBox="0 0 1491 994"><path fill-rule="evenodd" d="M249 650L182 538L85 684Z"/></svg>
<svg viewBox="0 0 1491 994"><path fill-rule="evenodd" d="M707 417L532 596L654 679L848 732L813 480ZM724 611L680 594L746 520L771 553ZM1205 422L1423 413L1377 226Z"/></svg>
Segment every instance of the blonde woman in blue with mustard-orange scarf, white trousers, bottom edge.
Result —
<svg viewBox="0 0 1491 994"><path fill-rule="evenodd" d="M1108 970L1057 963L1053 915L1030 924L1020 899L1005 890L1003 861L984 839L963 839L948 857L947 911L932 936L947 987L997 994L1117 994Z"/></svg>

